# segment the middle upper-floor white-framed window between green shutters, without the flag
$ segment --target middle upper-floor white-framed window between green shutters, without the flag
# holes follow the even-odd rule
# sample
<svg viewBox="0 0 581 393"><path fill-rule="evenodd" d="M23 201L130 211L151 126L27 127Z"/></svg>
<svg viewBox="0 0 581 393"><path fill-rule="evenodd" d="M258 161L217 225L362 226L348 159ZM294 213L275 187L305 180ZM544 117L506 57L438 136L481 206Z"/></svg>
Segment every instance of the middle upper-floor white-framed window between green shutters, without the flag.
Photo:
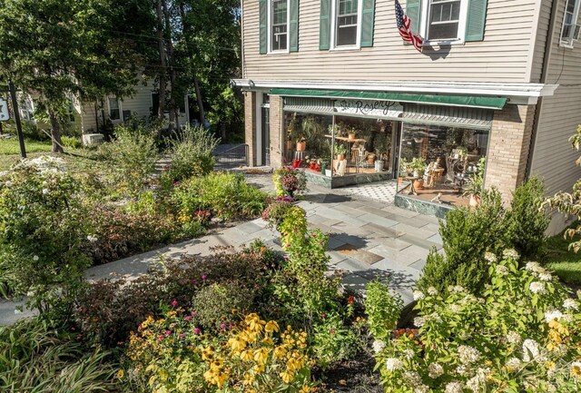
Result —
<svg viewBox="0 0 581 393"><path fill-rule="evenodd" d="M331 14L333 48L359 48L362 3L362 0L333 0Z"/></svg>

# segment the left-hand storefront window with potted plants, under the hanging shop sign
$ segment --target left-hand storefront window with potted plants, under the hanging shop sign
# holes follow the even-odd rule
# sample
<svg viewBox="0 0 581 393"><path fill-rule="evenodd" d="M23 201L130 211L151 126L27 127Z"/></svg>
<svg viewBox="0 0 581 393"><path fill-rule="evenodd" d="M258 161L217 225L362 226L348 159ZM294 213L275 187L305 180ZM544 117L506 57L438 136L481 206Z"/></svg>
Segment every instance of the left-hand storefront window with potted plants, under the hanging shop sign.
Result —
<svg viewBox="0 0 581 393"><path fill-rule="evenodd" d="M287 162L334 176L390 172L394 123L382 119L285 113Z"/></svg>

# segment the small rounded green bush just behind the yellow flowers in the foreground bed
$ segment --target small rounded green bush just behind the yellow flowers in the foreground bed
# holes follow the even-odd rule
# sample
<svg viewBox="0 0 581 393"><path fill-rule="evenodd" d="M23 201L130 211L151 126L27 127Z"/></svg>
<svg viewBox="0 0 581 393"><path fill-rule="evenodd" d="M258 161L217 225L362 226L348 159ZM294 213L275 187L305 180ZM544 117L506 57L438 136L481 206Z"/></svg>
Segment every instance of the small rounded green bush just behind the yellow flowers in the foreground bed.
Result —
<svg viewBox="0 0 581 393"><path fill-rule="evenodd" d="M224 331L235 324L238 316L252 305L253 289L241 281L223 281L208 285L193 297L195 321L202 329Z"/></svg>

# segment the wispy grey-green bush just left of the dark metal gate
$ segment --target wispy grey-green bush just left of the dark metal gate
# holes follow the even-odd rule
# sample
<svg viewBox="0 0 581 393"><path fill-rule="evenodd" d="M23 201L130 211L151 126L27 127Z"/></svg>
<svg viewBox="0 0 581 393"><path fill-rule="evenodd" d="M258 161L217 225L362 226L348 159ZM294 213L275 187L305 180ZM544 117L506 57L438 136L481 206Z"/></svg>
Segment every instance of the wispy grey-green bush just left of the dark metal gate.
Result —
<svg viewBox="0 0 581 393"><path fill-rule="evenodd" d="M181 182L192 176L212 172L214 166L212 152L219 142L219 139L203 127L183 128L170 142L169 153L172 164L167 174L173 181Z"/></svg>

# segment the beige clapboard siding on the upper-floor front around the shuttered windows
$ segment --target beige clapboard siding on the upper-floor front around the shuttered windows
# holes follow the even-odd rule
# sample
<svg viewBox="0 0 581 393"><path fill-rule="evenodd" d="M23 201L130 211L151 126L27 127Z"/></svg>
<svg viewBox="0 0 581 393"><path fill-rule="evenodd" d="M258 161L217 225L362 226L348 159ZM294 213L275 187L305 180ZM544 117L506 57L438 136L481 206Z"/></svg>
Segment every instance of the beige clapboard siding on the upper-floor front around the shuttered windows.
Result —
<svg viewBox="0 0 581 393"><path fill-rule="evenodd" d="M404 45L394 3L376 1L374 46L319 50L319 1L301 1L299 52L259 54L258 1L243 0L244 77L284 80L432 80L529 82L527 69L537 2L488 0L485 39L419 54ZM405 9L405 4L402 2Z"/></svg>

